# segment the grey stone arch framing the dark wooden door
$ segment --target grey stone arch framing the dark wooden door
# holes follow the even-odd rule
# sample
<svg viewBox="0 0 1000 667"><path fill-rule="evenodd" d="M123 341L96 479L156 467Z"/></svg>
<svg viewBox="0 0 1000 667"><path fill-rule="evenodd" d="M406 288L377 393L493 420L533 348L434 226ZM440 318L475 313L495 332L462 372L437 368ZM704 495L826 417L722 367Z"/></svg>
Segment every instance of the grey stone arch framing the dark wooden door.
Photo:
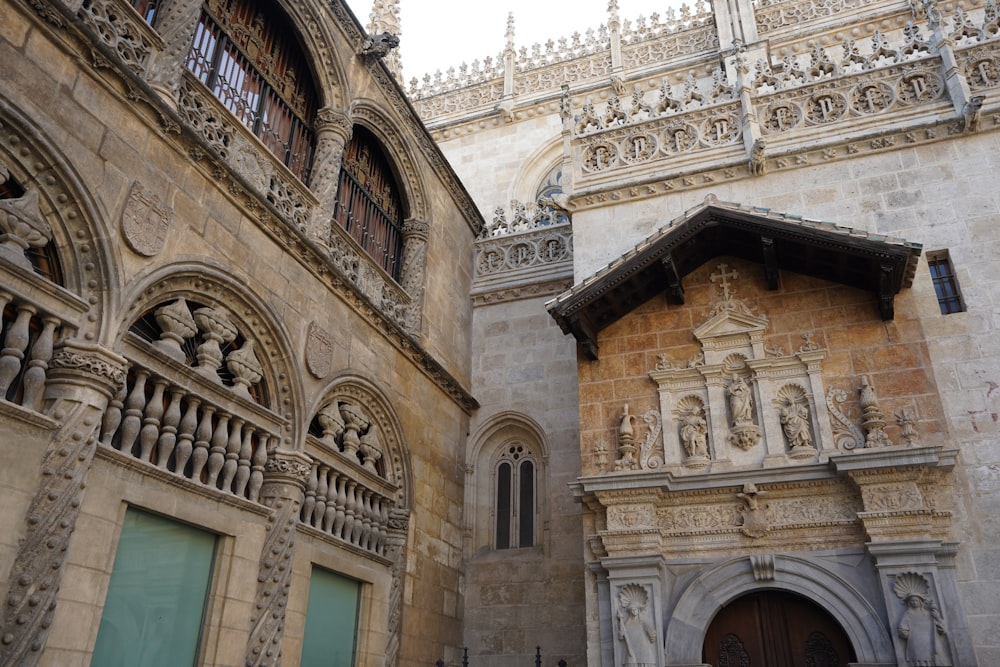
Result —
<svg viewBox="0 0 1000 667"><path fill-rule="evenodd" d="M809 558L756 555L725 561L686 587L667 622L665 664L701 663L705 634L719 610L742 595L762 590L822 600L826 612L847 635L859 663L895 662L882 615L850 582Z"/></svg>

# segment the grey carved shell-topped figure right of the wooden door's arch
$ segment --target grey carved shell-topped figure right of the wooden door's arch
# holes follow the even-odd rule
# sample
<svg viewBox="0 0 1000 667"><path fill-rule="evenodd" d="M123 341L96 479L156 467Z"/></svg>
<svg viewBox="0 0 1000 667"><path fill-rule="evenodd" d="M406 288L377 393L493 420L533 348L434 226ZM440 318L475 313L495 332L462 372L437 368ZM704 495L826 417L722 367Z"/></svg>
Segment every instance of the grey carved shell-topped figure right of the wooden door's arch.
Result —
<svg viewBox="0 0 1000 667"><path fill-rule="evenodd" d="M930 584L916 572L896 575L892 590L905 605L896 634L906 642L911 667L950 667L944 619L931 599Z"/></svg>

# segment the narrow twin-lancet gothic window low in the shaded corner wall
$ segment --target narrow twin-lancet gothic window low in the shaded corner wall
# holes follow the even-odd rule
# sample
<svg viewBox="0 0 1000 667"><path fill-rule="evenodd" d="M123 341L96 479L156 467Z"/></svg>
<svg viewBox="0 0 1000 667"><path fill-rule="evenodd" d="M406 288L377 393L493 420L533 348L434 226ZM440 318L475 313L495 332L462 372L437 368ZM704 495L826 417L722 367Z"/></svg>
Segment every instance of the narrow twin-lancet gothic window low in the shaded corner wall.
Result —
<svg viewBox="0 0 1000 667"><path fill-rule="evenodd" d="M521 443L504 447L496 467L497 549L535 544L536 466L534 455Z"/></svg>

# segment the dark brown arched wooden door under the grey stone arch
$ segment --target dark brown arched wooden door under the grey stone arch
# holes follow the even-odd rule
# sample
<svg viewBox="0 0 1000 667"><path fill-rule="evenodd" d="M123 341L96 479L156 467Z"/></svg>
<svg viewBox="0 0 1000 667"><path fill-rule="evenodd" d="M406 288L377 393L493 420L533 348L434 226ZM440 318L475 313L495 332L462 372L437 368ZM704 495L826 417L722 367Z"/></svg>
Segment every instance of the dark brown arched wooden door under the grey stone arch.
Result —
<svg viewBox="0 0 1000 667"><path fill-rule="evenodd" d="M705 633L702 662L713 667L846 667L847 634L809 600L761 591L724 606Z"/></svg>

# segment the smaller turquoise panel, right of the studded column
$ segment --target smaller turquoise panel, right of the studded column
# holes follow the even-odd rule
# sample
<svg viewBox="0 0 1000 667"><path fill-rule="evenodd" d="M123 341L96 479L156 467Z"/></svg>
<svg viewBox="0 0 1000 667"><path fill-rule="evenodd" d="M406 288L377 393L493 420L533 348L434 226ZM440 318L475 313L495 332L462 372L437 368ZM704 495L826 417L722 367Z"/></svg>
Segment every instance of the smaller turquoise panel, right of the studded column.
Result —
<svg viewBox="0 0 1000 667"><path fill-rule="evenodd" d="M361 584L314 567L299 667L354 667Z"/></svg>

